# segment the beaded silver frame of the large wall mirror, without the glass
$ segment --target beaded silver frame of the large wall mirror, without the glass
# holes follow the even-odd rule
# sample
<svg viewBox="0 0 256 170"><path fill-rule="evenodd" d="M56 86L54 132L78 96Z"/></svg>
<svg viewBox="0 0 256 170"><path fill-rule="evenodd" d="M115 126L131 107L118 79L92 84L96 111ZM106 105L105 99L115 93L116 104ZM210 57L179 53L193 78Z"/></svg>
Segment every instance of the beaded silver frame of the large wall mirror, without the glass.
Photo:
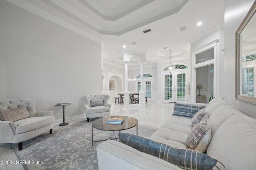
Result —
<svg viewBox="0 0 256 170"><path fill-rule="evenodd" d="M248 11L244 20L242 21L242 23L240 24L240 26L236 31L236 96L235 96L235 99L256 105L256 97L243 96L239 94L240 93L240 59L241 59L240 50L239 50L240 49L239 35L244 29L244 27L246 26L246 24L250 21L255 11L256 11L256 1L252 4L252 7ZM256 90L256 86L255 86L255 90Z"/></svg>

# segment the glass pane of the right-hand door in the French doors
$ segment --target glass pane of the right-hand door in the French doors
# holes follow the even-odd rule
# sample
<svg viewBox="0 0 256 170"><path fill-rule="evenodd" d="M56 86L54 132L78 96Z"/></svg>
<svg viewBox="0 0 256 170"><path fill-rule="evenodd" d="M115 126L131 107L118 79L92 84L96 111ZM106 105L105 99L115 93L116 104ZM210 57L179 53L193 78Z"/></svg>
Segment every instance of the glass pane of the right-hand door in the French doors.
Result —
<svg viewBox="0 0 256 170"><path fill-rule="evenodd" d="M185 101L186 74L177 74L177 100Z"/></svg>

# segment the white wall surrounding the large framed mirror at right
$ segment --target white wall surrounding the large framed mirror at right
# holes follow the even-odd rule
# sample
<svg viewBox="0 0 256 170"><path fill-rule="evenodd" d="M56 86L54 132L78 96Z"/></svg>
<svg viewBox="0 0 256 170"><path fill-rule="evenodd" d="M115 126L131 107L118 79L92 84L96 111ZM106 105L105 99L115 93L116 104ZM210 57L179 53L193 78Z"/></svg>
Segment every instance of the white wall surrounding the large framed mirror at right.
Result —
<svg viewBox="0 0 256 170"><path fill-rule="evenodd" d="M253 2L254 0L225 0L225 59L220 86L227 102L256 118L255 105L235 100L235 32Z"/></svg>

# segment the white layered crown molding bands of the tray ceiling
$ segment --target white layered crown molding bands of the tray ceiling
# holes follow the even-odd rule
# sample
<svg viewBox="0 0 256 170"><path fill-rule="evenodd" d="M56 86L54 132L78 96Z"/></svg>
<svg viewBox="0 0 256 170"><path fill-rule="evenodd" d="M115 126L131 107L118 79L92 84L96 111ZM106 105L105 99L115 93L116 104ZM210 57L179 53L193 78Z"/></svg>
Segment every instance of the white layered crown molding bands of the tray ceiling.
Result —
<svg viewBox="0 0 256 170"><path fill-rule="evenodd" d="M86 31L78 28L78 26L74 24L68 23L64 19L60 18L60 16L55 16L54 14L50 14L50 12L46 12L45 10L40 9L37 6L30 4L26 0L6 0L6 1L11 2L12 4L15 4L17 6L20 6L21 8L28 10L47 20L50 20L54 23L62 25L63 27L73 30L76 33L84 35L90 39L94 39L94 41L101 42L101 40L98 39L98 37L89 35L89 33L86 33ZM140 0L140 1L131 0L120 8L122 9L123 12L122 13L120 13L120 11L116 12L115 14L116 16L114 17L123 18L124 16L127 16L128 14L136 10L140 10L140 8L154 1L155 0ZM169 2L168 4L161 6L160 8L157 8L152 12L148 12L144 15L138 16L133 20L128 20L124 24L118 25L118 26L112 26L111 24L107 25L108 22L106 22L105 25L102 25L92 20L89 16L87 16L86 14L84 14L83 12L81 12L80 10L76 9L74 6L68 4L66 1L63 1L63 0L48 0L48 1L41 0L39 2L48 5L49 7L56 10L57 12L62 13L64 16L71 18L77 23L82 24L85 27L88 27L89 29L92 29L97 33L106 34L106 35L122 35L124 33L127 33L129 31L132 31L134 29L137 29L139 27L142 27L144 25L147 25L149 23L152 23L154 21L160 20L162 18L165 18L167 16L170 16L172 14L179 12L180 9L184 6L184 4L188 2L188 0L183 0L180 4L177 4L176 1ZM81 5L84 5L86 8L92 10L92 12L94 12L96 15L100 16L101 18L112 17L112 16L102 16L103 14L101 14L98 10L96 10L95 8L91 8L92 6L90 4L92 4L93 6L95 6L100 10L100 7L97 7L97 5L95 4L96 2L93 0L78 0L78 2L80 2Z"/></svg>

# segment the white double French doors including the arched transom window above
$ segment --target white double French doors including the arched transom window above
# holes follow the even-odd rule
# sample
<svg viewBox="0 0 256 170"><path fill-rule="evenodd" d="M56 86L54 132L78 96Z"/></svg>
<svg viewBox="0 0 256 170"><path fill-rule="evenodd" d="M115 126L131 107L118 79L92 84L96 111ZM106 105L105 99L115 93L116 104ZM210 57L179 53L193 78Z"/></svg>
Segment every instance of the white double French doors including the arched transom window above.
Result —
<svg viewBox="0 0 256 170"><path fill-rule="evenodd" d="M189 67L185 64L173 64L162 69L162 102L185 102Z"/></svg>

